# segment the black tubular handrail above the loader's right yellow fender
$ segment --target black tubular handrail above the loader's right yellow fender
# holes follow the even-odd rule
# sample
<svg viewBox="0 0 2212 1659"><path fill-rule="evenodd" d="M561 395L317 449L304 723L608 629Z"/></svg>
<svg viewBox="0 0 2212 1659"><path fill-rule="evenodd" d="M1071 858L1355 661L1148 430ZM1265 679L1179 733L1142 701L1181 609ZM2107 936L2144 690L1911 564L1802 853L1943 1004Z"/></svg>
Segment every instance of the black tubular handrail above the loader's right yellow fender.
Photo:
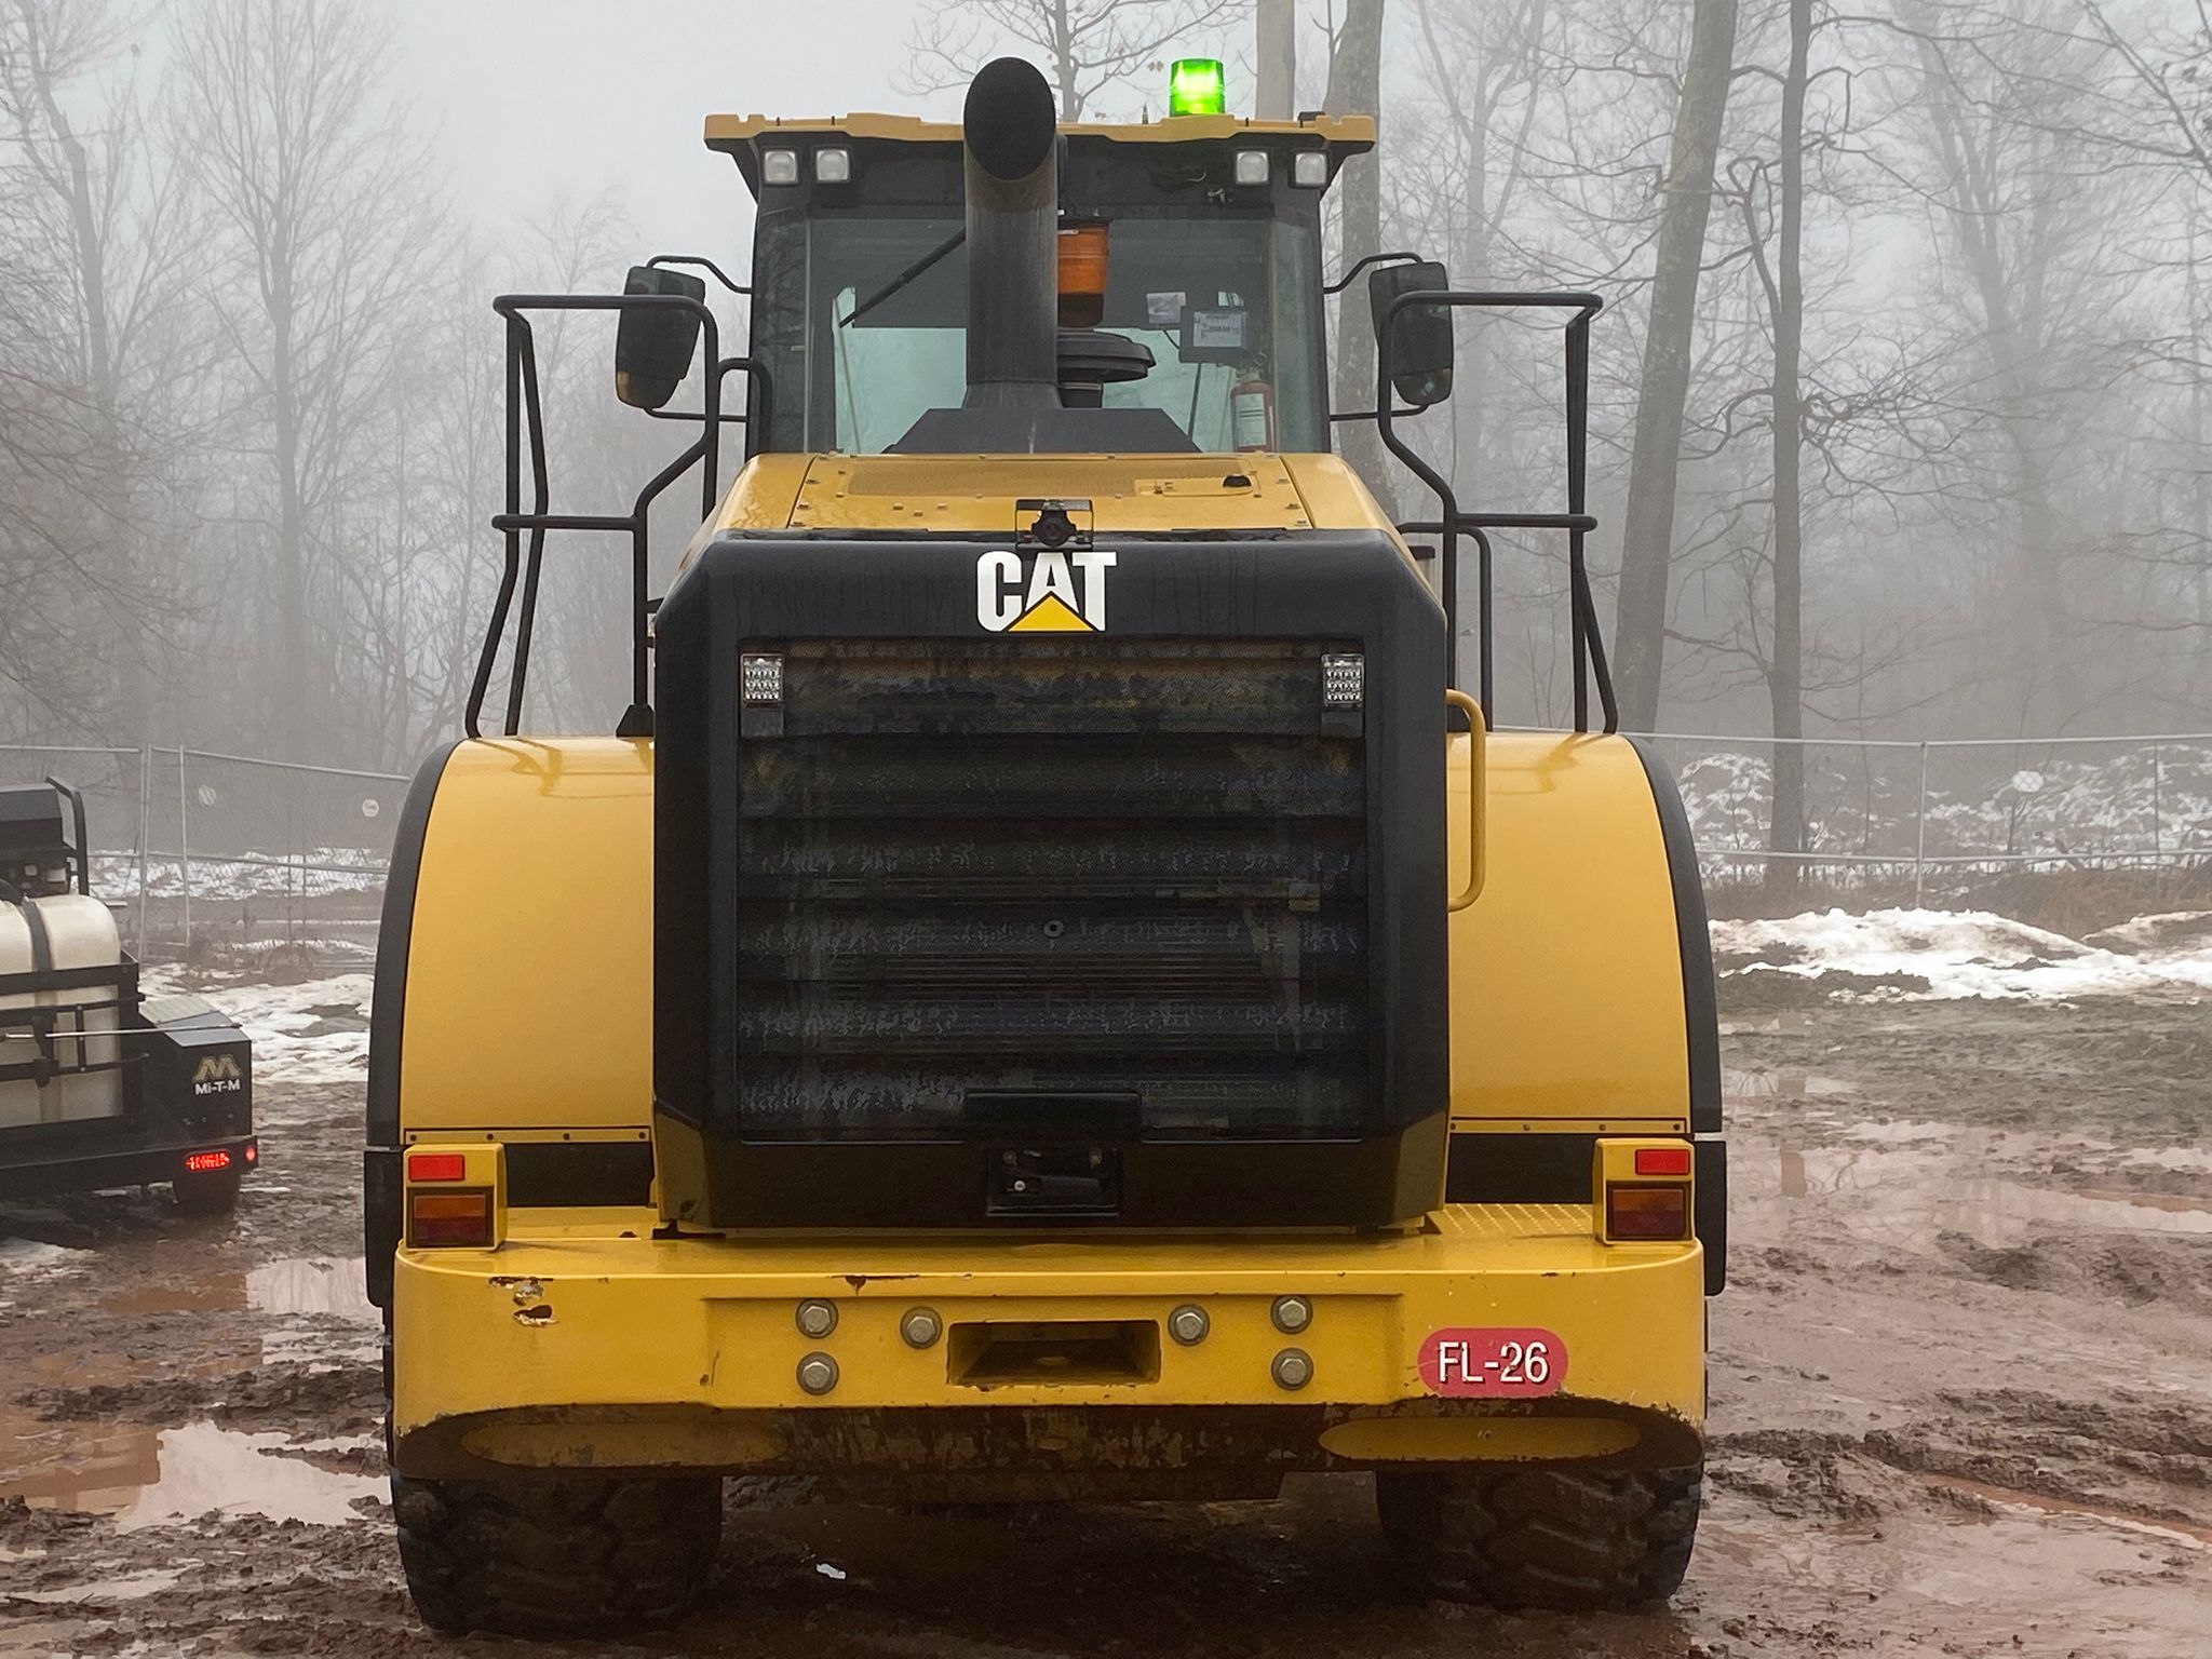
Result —
<svg viewBox="0 0 2212 1659"><path fill-rule="evenodd" d="M1480 697L1482 717L1495 726L1495 670L1493 670L1493 586L1491 586L1491 538L1489 531L1566 531L1568 568L1568 635L1575 655L1575 730L1590 730L1590 681L1597 684L1597 699L1606 712L1606 732L1621 726L1619 706L1613 697L1613 668L1606 661L1606 641L1597 628L1597 602L1590 595L1590 568L1584 538L1597 529L1588 513L1588 453L1590 453L1590 319L1604 310L1599 294L1548 294L1548 292L1471 292L1458 288L1416 290L1396 294L1376 319L1376 431L1383 447L1405 462L1442 509L1433 520L1413 520L1398 529L1407 535L1438 535L1444 562L1444 619L1451 628L1451 655L1447 659L1447 684L1460 684L1460 535L1475 540L1478 553L1478 628L1482 635ZM1391 407L1391 341L1398 312L1409 305L1451 305L1475 310L1573 310L1566 323L1566 511L1564 513L1462 513L1460 498L1451 482L1420 458L1396 431L1398 411Z"/></svg>

